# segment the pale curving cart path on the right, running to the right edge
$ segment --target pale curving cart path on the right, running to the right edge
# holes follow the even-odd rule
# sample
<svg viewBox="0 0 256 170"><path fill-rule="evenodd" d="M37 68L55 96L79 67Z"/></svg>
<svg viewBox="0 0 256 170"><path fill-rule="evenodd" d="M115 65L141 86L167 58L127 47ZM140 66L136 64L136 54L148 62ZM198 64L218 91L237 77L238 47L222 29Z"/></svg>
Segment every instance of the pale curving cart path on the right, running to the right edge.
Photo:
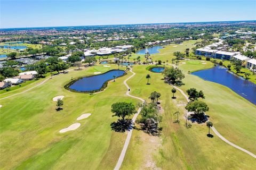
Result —
<svg viewBox="0 0 256 170"><path fill-rule="evenodd" d="M175 89L179 90L181 92L181 94L186 98L186 100L189 102L189 99L188 99L188 96L185 94L185 92L183 92L180 88L176 87L176 86L173 86ZM245 152L246 154L249 154L250 156L256 158L256 155L254 155L252 152L244 149L244 148L241 148L237 145L235 145L234 143L230 142L229 140L227 140L226 138L224 138L215 128L214 126L211 127L212 131L221 139L223 140L224 142L228 143L229 145L239 149L239 150L242 150L243 152Z"/></svg>

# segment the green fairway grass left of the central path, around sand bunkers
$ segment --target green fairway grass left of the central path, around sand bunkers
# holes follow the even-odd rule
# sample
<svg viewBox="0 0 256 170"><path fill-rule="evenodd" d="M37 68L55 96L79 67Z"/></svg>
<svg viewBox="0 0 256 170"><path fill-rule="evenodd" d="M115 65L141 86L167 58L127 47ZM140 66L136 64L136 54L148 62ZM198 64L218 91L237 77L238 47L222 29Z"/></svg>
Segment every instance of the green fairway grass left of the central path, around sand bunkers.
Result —
<svg viewBox="0 0 256 170"><path fill-rule="evenodd" d="M63 86L71 77L116 68L114 65L94 66L83 71L70 71L25 94L0 100L3 105L0 114L1 169L98 169L105 164L107 169L113 169L126 134L110 130L110 123L117 119L111 117L111 104L117 101L137 103L125 95L123 81L131 73L117 78L115 83L110 82L106 90L95 95L70 92ZM63 111L57 112L52 98L59 95L65 98ZM92 115L76 121L84 113ZM81 123L77 130L59 133L76 122Z"/></svg>

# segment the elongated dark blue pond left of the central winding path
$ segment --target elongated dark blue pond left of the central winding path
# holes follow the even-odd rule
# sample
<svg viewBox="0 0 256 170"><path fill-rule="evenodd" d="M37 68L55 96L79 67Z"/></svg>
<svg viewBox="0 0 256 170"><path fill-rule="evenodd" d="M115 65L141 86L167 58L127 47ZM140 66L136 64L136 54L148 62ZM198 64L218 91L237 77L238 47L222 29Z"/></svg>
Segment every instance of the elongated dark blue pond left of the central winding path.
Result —
<svg viewBox="0 0 256 170"><path fill-rule="evenodd" d="M115 78L118 78L124 74L125 71L123 70L110 70L103 74L92 75L71 81L69 83L71 85L67 84L65 88L77 92L100 91L107 87L107 82L114 79L114 76Z"/></svg>

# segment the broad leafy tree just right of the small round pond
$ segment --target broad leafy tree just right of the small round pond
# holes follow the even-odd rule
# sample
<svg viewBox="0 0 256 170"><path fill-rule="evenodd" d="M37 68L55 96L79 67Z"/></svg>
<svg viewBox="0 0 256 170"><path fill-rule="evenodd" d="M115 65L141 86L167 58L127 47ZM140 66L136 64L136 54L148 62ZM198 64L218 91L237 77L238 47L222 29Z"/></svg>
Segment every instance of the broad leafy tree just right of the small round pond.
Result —
<svg viewBox="0 0 256 170"><path fill-rule="evenodd" d="M165 68L164 69L164 78L171 81L172 84L177 83L177 81L181 81L185 78L185 75L182 73L182 71L178 68Z"/></svg>

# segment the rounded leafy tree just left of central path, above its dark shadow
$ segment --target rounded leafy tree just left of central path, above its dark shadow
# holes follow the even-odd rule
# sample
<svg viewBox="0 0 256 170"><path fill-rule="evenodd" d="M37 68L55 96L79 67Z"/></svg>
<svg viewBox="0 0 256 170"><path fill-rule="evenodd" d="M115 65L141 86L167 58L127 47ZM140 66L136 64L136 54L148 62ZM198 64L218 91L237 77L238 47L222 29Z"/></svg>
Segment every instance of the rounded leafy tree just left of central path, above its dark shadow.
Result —
<svg viewBox="0 0 256 170"><path fill-rule="evenodd" d="M122 117L125 122L125 116L130 116L136 113L135 106L132 103L118 102L111 105L113 116Z"/></svg>

